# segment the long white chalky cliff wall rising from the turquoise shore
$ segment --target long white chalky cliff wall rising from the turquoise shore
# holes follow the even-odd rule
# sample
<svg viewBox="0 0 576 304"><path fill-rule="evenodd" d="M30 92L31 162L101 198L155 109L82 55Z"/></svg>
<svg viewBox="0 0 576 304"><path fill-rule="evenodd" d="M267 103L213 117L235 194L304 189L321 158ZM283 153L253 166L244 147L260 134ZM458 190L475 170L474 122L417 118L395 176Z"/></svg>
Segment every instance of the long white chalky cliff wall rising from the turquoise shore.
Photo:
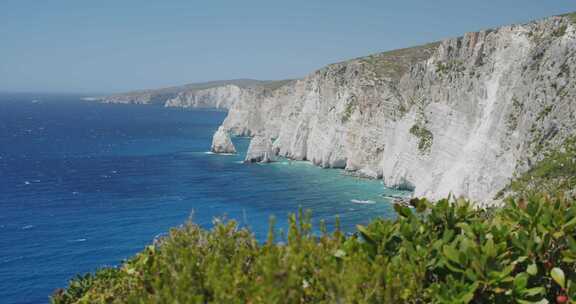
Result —
<svg viewBox="0 0 576 304"><path fill-rule="evenodd" d="M415 195L494 197L576 129L569 17L334 64L234 102L223 126Z"/></svg>

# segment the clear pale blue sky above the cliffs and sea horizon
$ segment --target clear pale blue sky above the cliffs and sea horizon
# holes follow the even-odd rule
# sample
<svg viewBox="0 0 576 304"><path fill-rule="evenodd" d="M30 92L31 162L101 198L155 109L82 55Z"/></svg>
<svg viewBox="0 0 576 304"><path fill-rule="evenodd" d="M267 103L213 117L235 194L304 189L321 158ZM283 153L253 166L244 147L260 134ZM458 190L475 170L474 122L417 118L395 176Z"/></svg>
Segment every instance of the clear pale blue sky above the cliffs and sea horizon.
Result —
<svg viewBox="0 0 576 304"><path fill-rule="evenodd" d="M1 0L0 91L296 78L569 11L575 0Z"/></svg>

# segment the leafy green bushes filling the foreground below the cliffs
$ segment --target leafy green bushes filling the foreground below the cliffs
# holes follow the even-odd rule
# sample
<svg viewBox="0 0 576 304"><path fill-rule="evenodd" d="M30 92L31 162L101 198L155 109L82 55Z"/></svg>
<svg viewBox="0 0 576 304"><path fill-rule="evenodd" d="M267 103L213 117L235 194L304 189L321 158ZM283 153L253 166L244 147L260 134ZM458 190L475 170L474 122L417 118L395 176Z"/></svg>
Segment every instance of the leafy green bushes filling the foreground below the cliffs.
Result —
<svg viewBox="0 0 576 304"><path fill-rule="evenodd" d="M80 276L53 303L569 303L576 206L564 196L396 206L345 236L293 215L286 243L233 221L173 229L118 268ZM273 231L273 229L271 229Z"/></svg>

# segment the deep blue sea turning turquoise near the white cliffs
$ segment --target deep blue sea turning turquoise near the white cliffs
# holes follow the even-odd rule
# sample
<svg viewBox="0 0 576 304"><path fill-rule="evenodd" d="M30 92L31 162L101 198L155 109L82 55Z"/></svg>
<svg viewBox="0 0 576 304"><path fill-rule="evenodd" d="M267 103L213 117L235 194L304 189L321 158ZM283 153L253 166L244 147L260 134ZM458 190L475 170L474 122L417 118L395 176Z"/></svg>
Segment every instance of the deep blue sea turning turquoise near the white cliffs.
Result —
<svg viewBox="0 0 576 304"><path fill-rule="evenodd" d="M0 95L0 302L47 303L78 273L118 265L192 217L266 237L298 207L353 231L392 217L380 181L306 162L207 153L226 113ZM248 139L236 138L240 152ZM373 201L358 204L352 200Z"/></svg>

